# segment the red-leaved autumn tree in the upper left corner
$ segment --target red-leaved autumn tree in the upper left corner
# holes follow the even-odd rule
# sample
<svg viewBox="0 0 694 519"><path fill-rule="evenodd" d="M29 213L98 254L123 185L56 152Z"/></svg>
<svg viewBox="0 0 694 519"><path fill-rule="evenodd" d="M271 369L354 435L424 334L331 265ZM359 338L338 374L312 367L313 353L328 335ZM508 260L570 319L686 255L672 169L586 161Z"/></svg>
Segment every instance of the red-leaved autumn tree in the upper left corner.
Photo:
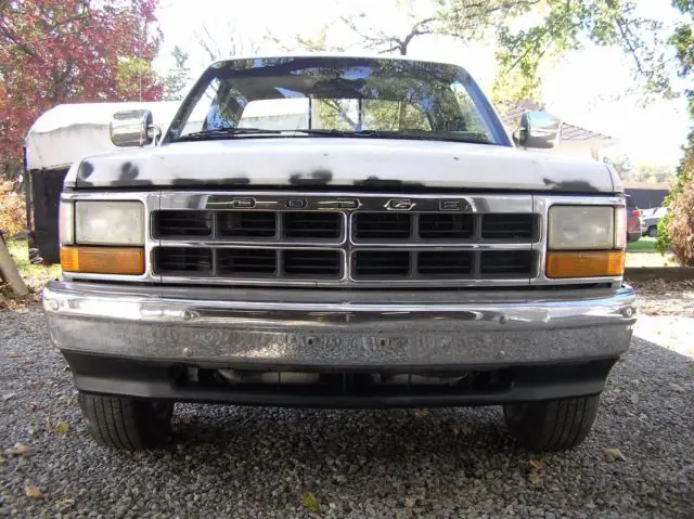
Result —
<svg viewBox="0 0 694 519"><path fill-rule="evenodd" d="M21 164L42 112L66 102L158 100L157 0L0 4L0 174Z"/></svg>

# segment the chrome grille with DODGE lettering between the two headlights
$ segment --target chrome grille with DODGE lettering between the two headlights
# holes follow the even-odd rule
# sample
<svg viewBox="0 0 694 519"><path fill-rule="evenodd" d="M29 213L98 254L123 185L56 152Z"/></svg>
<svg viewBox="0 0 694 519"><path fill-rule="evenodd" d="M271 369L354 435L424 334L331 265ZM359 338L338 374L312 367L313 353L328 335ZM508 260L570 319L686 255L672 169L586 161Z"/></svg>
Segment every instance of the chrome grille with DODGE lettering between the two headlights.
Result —
<svg viewBox="0 0 694 519"><path fill-rule="evenodd" d="M530 195L164 193L151 221L170 283L516 286L541 263Z"/></svg>

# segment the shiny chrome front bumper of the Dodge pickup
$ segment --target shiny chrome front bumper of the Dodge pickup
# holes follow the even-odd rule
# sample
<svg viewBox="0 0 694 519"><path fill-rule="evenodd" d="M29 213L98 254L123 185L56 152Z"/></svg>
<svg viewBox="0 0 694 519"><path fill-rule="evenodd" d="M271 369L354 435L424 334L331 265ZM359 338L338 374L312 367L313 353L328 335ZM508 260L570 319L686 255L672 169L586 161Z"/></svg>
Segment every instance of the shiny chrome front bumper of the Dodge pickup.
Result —
<svg viewBox="0 0 694 519"><path fill-rule="evenodd" d="M472 368L616 359L629 286L579 290L334 290L52 282L64 352L250 368Z"/></svg>

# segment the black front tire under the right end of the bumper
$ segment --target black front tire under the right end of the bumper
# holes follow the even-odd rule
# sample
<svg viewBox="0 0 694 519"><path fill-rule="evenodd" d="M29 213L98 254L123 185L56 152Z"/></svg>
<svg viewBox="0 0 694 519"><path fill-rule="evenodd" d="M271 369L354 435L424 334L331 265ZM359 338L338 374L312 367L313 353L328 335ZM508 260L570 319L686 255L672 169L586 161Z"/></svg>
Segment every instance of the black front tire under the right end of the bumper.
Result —
<svg viewBox="0 0 694 519"><path fill-rule="evenodd" d="M590 432L600 394L503 406L511 434L530 451L565 451Z"/></svg>

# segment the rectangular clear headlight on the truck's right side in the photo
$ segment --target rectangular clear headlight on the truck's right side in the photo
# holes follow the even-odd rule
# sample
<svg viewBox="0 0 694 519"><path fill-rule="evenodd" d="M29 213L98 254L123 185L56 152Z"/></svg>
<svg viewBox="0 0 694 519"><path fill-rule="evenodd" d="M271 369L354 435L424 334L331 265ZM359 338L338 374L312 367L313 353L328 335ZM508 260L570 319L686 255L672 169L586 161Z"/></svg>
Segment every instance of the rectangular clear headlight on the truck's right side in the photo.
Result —
<svg viewBox="0 0 694 519"><path fill-rule="evenodd" d="M615 209L606 206L553 206L549 219L550 250L615 248Z"/></svg>

